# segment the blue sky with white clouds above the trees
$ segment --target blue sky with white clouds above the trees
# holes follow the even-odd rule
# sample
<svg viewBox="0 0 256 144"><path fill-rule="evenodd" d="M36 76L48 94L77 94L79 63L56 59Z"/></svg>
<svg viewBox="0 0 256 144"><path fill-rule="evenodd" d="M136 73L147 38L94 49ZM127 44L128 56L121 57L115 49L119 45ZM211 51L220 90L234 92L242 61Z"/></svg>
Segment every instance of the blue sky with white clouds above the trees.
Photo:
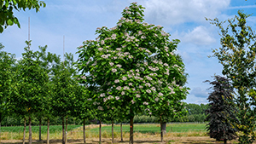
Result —
<svg viewBox="0 0 256 144"><path fill-rule="evenodd" d="M164 26L171 39L180 39L177 53L182 55L189 73L187 87L188 103L207 103L211 85L203 83L211 80L214 74L221 75L222 65L212 55L212 49L221 47L218 28L209 24L207 18L227 20L234 17L239 9L247 14L256 10L254 0L44 0L46 7L36 13L34 9L15 12L21 28L9 26L0 34L0 43L5 51L13 53L19 59L26 47L28 36L28 17L30 17L30 37L33 50L48 45L48 51L63 54L63 36L65 52L75 55L77 47L85 40L96 38L96 28L116 26L122 17L121 12L132 2L143 5L145 22ZM74 3L75 2L75 3ZM247 20L248 26L256 29L256 16Z"/></svg>

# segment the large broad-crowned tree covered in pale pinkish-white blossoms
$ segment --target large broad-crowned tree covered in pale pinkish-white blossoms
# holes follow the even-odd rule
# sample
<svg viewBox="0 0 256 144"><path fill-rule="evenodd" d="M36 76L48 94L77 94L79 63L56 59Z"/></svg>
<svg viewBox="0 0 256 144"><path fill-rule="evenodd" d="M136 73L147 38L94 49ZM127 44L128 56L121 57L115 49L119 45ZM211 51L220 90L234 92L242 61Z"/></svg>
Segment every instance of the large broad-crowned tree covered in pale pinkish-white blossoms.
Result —
<svg viewBox="0 0 256 144"><path fill-rule="evenodd" d="M97 28L99 37L78 48L77 66L83 83L100 87L98 109L121 107L119 112L131 118L130 143L135 113L146 110L153 115L163 109L175 114L175 107L187 94L186 88L176 84L183 76L183 63L173 54L179 41L170 42L162 26L143 22L143 9L131 3L117 26Z"/></svg>

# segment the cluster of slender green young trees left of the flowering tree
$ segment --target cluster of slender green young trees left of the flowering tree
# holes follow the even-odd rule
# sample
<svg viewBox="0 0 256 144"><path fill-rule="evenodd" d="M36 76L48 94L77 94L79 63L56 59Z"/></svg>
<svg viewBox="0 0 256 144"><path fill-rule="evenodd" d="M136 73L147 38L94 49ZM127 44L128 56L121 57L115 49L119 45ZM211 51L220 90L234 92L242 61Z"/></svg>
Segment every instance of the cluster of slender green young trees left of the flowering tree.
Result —
<svg viewBox="0 0 256 144"><path fill-rule="evenodd" d="M33 52L30 43L26 42L27 47L20 60L15 60L15 55L0 52L3 70L0 74L0 124L4 117L14 113L24 118L23 143L27 120L29 143L32 143L32 117L38 118L39 125L42 118L48 118L49 126L50 117L64 119L67 116L77 116L74 107L82 101L73 100L84 95L83 87L73 78L77 71L73 67L72 54L66 53L65 60L61 62L61 56L47 53L46 46ZM3 49L3 45L0 45ZM49 143L49 137L47 142Z"/></svg>

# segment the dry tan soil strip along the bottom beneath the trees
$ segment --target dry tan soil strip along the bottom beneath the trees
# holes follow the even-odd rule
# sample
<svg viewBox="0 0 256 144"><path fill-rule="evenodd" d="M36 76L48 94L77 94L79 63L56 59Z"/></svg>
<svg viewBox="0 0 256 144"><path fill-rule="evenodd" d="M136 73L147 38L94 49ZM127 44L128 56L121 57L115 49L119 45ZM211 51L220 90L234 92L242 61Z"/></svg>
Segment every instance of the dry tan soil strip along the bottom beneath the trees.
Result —
<svg viewBox="0 0 256 144"><path fill-rule="evenodd" d="M215 141L207 136L189 136L189 137L164 137L163 143L173 143L173 144L208 144L208 143L223 143L222 141ZM15 143L15 144L22 144L21 140L1 140L1 143ZM28 141L26 141L28 143ZM46 143L46 141L36 141L33 140L32 143L41 144ZM50 140L49 143L61 144L61 140ZM83 143L82 139L79 140L68 140L67 143ZM96 144L99 143L98 138L86 138L86 143L88 144ZM102 144L110 144L111 139L109 138L102 138ZM121 143L121 144L128 144L129 139L124 138L124 141L120 141L120 138L115 138L114 143ZM148 138L139 138L134 137L135 144L160 144L160 137L153 136ZM238 143L238 141L228 141L228 143ZM256 144L256 142L253 142Z"/></svg>

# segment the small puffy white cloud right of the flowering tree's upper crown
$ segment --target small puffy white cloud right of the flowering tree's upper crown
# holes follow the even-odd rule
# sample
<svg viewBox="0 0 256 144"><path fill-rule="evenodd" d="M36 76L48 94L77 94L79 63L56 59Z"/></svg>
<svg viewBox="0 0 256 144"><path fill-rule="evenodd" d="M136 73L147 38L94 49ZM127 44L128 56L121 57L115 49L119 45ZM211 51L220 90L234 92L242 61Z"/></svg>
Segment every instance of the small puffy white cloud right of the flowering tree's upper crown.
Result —
<svg viewBox="0 0 256 144"><path fill-rule="evenodd" d="M192 32L184 34L182 41L185 43L195 43L196 45L209 45L216 40L211 36L209 29L205 26L196 26Z"/></svg>

